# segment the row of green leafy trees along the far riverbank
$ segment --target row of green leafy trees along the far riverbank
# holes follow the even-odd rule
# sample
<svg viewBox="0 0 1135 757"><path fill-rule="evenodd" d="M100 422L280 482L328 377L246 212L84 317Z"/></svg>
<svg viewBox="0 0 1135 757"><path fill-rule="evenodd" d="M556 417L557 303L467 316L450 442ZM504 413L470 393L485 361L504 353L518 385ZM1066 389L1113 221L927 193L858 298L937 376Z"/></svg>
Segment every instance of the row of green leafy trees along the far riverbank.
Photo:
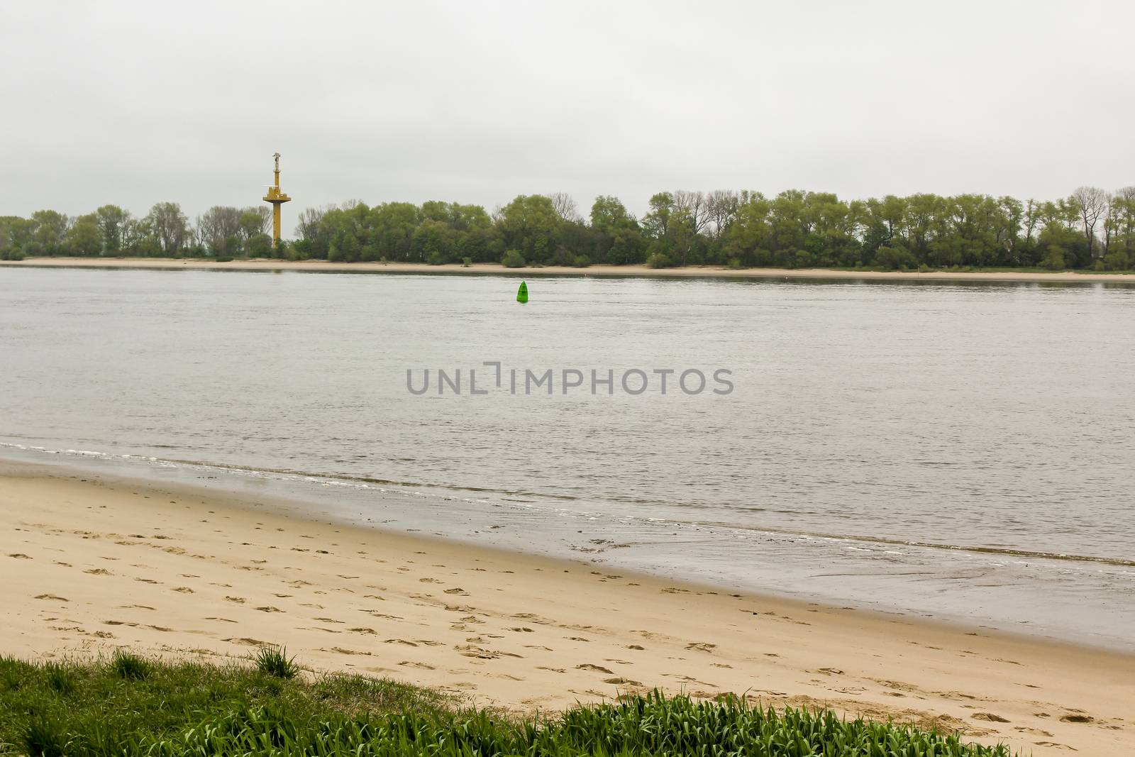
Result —
<svg viewBox="0 0 1135 757"><path fill-rule="evenodd" d="M0 217L0 259L25 255L276 256L521 266L645 263L732 268L1127 270L1135 187L1079 187L1056 201L914 194L844 201L790 190L659 192L636 217L614 196L585 218L566 194L520 195L489 213L454 202L308 208L271 245L264 207L215 207L194 221L173 202L132 217L117 205L68 218Z"/></svg>

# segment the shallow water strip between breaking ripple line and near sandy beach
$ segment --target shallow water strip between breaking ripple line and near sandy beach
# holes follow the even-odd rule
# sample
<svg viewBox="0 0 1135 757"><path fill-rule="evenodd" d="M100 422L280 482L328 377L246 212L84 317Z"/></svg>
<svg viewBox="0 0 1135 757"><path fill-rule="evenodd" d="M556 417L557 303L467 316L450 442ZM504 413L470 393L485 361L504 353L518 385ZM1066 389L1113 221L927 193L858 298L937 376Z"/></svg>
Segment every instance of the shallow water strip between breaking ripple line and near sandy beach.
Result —
<svg viewBox="0 0 1135 757"><path fill-rule="evenodd" d="M864 566L857 560L848 561L844 550L824 549L829 542L842 542L852 539L861 544L873 544L877 547L894 545L899 548L913 547L916 550L932 548L933 556L908 556L911 570L924 560L941 561L959 556L978 555L998 560L982 548L966 548L947 545L919 545L907 540L894 540L883 537L866 538L863 536L832 535L806 532L798 529L755 528L751 533L765 533L766 538L757 541L746 540L738 550L737 531L741 527L724 525L706 528L701 524L680 523L663 519L664 531L674 528L692 527L688 538L695 538L698 546L692 549L678 549L666 558L653 558L651 545L657 545L656 528L644 530L644 523L638 528L628 528L628 520L641 521L642 516L620 516L612 513L596 513L548 518L546 510L533 511L531 507L511 510L507 503L496 503L485 507L485 503L474 503L463 497L448 496L447 493L422 494L418 487L411 490L398 485L384 486L379 490L369 483L352 486L334 476L323 476L301 471L267 470L258 471L245 466L225 466L212 463L195 463L184 460L166 460L161 457L132 460L123 463L114 455L94 452L52 451L41 455L39 448L23 445L8 446L0 441L0 470L9 465L27 465L34 470L53 471L60 474L89 474L92 478L118 479L136 482L144 487L187 486L193 493L208 491L227 497L239 505L246 498L268 498L275 510L300 518L310 519L311 513L320 513L320 519L329 519L339 525L348 528L378 528L393 533L415 533L440 539L447 542L488 547L505 553L523 553L536 557L554 560L581 561L591 565L592 570L609 572L633 572L651 575L661 580L674 580L683 583L704 586L718 592L749 591L773 595L797 603L818 603L824 606L841 606L877 613L881 616L907 616L933 619L953 629L978 629L1019 634L1026 638L1084 646L1120 654L1135 655L1135 646L1123 630L1121 622L1109 622L1105 628L1085 625L1083 622L1053 624L1059 612L1053 614L1046 605L1037 602L1058 602L1059 607L1070 609L1078 606L1077 600L1067 590L1059 595L1037 595L1033 582L1014 584L1022 577L1006 575L995 578L999 572L994 562L986 563L991 574L986 579L993 584L1008 581L1012 594L1001 591L997 597L990 596L990 590L981 589L968 582L958 582L957 575L968 574L973 563L957 564L951 569L948 564L935 562L933 578L923 573L919 581L920 590L911 594L913 586L888 586L885 596L877 594L884 584L875 583L874 588L861 583L851 588L841 583L839 587L824 578L815 579L815 571L801 566L815 564L827 565L827 574L854 574L867 570L864 575L877 571L880 575L891 572L886 565L876 564L873 569ZM157 465L151 466L151 465ZM251 474L251 477L249 476ZM277 476L280 474L280 476ZM296 478L299 477L299 478ZM541 512L541 514L537 514ZM646 519L654 525L654 519ZM662 521L659 521L661 523ZM676 536L671 533L671 536ZM780 537L798 537L789 544ZM799 537L804 538L801 542ZM664 538L664 537L663 537ZM602 542L602 544L600 544ZM691 546L689 542L687 546ZM722 549L730 555L722 561ZM889 550L888 550L889 552ZM857 554L859 552L857 550ZM1050 555L1029 552L1027 554L999 552L1002 556L1036 558L1041 562L1060 560L1063 555ZM885 560L885 558L884 558ZM962 557L962 563L966 560ZM1061 561L1067 562L1067 561ZM1074 558L1071 566L1085 563L1102 565L1111 564L1112 569L1127 566L1126 561L1108 558L1081 557ZM1108 570L1108 569L1103 569ZM1035 580L1036 577L1033 577ZM949 596L943 596L949 591ZM893 594L892 594L893 592ZM1059 599L1058 599L1059 597ZM1076 595L1076 597L1081 597ZM1082 600L1082 597L1079 598ZM1006 602L1012 604L1007 607ZM999 609L990 612L994 603ZM1127 613L1129 614L1129 613ZM1117 615L1117 619L1119 615Z"/></svg>

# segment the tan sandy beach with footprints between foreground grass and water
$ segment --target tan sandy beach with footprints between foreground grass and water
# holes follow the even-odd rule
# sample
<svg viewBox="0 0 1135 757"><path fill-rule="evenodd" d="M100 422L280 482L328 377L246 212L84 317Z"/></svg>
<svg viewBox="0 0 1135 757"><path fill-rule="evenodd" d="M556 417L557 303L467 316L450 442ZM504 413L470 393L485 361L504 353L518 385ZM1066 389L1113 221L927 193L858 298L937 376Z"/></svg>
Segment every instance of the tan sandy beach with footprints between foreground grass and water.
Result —
<svg viewBox="0 0 1135 757"><path fill-rule="evenodd" d="M392 676L514 709L661 687L1135 752L1135 657L3 469L0 653L128 646Z"/></svg>

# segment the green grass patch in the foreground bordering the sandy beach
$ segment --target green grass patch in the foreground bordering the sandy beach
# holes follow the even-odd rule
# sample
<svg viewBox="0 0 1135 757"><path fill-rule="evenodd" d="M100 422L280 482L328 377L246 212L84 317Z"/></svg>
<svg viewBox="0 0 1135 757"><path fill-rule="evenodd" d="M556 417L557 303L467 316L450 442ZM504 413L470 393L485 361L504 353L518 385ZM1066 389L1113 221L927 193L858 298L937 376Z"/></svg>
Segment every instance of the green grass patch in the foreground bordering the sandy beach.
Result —
<svg viewBox="0 0 1135 757"><path fill-rule="evenodd" d="M521 721L360 675L296 675L283 649L246 665L0 658L0 754L1008 757L897 724L658 693ZM141 662L142 666L124 663ZM271 659L267 672L259 661ZM278 667L283 663L285 667ZM124 671L143 670L143 675ZM280 670L292 676L278 675Z"/></svg>

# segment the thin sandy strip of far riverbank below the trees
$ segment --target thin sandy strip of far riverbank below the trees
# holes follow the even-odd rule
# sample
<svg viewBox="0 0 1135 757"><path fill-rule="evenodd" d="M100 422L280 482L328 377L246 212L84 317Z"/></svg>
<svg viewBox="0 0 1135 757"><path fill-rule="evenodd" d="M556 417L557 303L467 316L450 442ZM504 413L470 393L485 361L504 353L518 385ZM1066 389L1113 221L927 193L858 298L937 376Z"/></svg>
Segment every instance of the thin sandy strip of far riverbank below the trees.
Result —
<svg viewBox="0 0 1135 757"><path fill-rule="evenodd" d="M201 259L175 258L27 258L20 261L0 261L0 267L14 268L106 268L106 269L177 269L177 270L233 270L233 271L306 271L306 272L367 272L367 274L436 274L464 276L580 276L611 278L672 278L672 279L842 279L894 281L1032 281L1053 284L1133 284L1135 274L1079 274L1060 271L848 271L825 268L748 268L729 269L720 266L687 268L647 268L646 266L546 266L543 268L505 268L499 263L473 263L468 268L457 263L429 266L426 263L358 262L329 263L305 260L235 260L227 263Z"/></svg>

